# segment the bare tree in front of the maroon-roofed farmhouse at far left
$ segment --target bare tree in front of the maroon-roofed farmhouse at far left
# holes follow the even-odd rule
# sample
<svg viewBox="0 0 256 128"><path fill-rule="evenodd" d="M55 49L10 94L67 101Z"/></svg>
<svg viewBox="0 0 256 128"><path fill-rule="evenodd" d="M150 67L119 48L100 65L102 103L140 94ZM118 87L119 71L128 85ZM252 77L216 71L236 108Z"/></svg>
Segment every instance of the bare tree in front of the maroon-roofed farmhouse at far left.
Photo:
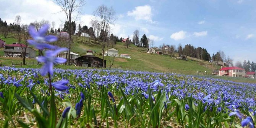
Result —
<svg viewBox="0 0 256 128"><path fill-rule="evenodd" d="M26 50L28 47L28 38L29 38L29 33L28 33L28 25L22 25L21 30L19 30L15 38L18 41L18 44L21 47L21 54L23 56L23 65L26 65L25 63L25 58L26 58Z"/></svg>

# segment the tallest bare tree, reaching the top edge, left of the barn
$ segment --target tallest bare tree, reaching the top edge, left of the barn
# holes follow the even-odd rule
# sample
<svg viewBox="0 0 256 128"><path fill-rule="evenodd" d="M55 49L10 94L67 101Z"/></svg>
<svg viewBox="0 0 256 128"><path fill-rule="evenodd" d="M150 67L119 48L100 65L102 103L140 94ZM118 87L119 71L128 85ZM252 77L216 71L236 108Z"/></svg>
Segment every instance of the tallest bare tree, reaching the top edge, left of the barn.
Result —
<svg viewBox="0 0 256 128"><path fill-rule="evenodd" d="M71 49L71 30L73 26L71 26L72 14L77 11L80 13L79 9L84 5L85 0L54 0L55 3L60 6L62 12L65 13L67 21L68 21L68 65L70 65L70 49Z"/></svg>

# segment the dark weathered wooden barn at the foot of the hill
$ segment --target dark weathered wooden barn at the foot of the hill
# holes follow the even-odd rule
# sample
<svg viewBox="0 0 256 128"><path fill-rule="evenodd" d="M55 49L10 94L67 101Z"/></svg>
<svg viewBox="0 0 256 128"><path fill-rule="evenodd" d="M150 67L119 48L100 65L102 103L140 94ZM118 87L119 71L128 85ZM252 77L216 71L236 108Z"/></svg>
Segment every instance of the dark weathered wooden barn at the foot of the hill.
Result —
<svg viewBox="0 0 256 128"><path fill-rule="evenodd" d="M107 62L106 60L104 61L105 63ZM94 55L83 55L81 57L78 57L75 60L75 64L76 66L93 67L93 68L102 68L103 66L102 59Z"/></svg>

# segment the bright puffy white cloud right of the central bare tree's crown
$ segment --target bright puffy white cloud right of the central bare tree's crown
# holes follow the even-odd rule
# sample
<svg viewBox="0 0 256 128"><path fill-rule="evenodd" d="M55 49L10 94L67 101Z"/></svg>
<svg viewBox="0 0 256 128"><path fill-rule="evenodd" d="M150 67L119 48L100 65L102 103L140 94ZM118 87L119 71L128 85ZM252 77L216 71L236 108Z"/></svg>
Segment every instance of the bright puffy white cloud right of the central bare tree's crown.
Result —
<svg viewBox="0 0 256 128"><path fill-rule="evenodd" d="M135 10L128 11L127 15L133 16L136 20L142 19L154 23L154 21L152 21L151 6L149 5L137 6Z"/></svg>

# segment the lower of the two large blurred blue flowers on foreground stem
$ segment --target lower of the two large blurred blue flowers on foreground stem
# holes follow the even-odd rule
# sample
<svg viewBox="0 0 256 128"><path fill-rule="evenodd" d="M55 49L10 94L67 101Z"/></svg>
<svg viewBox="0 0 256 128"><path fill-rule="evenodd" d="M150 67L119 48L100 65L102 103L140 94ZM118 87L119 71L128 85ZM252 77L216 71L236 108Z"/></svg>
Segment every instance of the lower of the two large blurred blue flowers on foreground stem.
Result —
<svg viewBox="0 0 256 128"><path fill-rule="evenodd" d="M44 66L41 68L41 75L45 76L47 73L53 75L53 65L57 63L65 63L65 58L55 57L58 53L66 51L66 48L59 48L56 50L47 50L45 56L41 56L37 59L38 62L43 62Z"/></svg>

